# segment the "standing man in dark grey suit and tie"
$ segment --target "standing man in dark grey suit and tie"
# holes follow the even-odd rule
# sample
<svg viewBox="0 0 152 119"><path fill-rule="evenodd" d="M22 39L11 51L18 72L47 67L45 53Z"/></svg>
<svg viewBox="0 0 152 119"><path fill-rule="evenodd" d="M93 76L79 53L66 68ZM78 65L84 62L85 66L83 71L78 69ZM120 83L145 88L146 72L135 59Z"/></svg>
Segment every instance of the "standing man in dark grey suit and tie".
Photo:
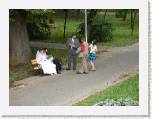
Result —
<svg viewBox="0 0 152 119"><path fill-rule="evenodd" d="M71 70L71 64L73 64L73 70L76 70L77 64L77 49L80 46L79 40L73 35L66 42L66 46L68 48L68 68L67 70Z"/></svg>

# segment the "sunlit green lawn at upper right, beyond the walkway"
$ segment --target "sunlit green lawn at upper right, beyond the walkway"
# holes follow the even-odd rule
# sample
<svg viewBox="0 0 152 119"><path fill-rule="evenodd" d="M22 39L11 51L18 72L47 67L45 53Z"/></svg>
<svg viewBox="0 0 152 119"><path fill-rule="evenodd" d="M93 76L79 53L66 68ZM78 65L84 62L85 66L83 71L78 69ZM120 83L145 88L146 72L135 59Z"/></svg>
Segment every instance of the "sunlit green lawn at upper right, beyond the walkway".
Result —
<svg viewBox="0 0 152 119"><path fill-rule="evenodd" d="M139 16L136 17L133 36L131 35L130 17L126 21L120 18L115 18L114 15L108 15L106 21L112 23L113 39L99 44L105 46L128 46L139 41Z"/></svg>

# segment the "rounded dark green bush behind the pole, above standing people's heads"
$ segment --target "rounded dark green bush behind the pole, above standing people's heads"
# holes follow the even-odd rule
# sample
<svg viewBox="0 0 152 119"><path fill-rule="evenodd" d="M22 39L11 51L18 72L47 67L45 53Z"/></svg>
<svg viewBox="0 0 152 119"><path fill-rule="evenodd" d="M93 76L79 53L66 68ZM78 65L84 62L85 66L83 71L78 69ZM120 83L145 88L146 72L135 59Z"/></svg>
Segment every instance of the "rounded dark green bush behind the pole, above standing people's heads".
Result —
<svg viewBox="0 0 152 119"><path fill-rule="evenodd" d="M112 24L110 22L104 22L101 18L95 18L93 22L88 25L88 40L96 39L97 41L112 40ZM77 36L81 37L85 34L85 23L81 23L78 27Z"/></svg>

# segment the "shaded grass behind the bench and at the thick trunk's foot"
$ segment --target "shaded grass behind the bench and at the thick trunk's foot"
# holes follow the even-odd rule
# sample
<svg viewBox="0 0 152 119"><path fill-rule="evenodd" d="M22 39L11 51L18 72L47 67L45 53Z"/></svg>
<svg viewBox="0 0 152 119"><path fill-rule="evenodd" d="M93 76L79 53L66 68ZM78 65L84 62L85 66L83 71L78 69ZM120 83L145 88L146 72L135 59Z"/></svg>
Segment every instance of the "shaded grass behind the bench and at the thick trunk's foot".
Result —
<svg viewBox="0 0 152 119"><path fill-rule="evenodd" d="M32 58L35 58L37 48L32 48ZM54 57L61 58L62 63L67 62L67 49L48 49L48 53ZM30 61L29 61L30 62ZM27 78L33 74L31 64L11 67L9 70L9 80L16 81Z"/></svg>

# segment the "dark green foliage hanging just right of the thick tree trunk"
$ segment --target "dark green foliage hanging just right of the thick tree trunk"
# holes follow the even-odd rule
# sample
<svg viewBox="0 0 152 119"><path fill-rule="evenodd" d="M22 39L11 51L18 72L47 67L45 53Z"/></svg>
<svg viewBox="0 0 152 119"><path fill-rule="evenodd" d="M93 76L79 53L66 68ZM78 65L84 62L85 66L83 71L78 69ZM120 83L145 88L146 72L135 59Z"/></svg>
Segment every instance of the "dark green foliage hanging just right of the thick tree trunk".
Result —
<svg viewBox="0 0 152 119"><path fill-rule="evenodd" d="M37 9L27 10L27 29L30 39L44 39L51 35L53 19L52 10Z"/></svg>

